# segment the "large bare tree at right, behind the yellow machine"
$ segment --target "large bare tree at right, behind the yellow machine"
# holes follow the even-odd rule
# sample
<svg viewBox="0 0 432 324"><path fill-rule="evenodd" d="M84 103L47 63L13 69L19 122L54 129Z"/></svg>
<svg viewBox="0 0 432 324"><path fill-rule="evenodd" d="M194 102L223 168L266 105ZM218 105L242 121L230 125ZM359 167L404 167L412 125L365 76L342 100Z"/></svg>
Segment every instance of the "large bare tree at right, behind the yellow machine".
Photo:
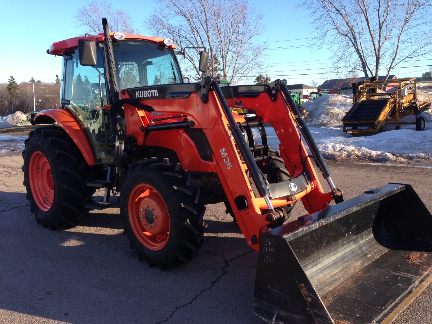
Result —
<svg viewBox="0 0 432 324"><path fill-rule="evenodd" d="M304 0L318 44L334 51L332 72L386 79L400 63L429 54L431 20L425 1ZM316 43L315 43L316 44ZM383 67L383 68L381 68ZM343 71L343 72L342 72Z"/></svg>

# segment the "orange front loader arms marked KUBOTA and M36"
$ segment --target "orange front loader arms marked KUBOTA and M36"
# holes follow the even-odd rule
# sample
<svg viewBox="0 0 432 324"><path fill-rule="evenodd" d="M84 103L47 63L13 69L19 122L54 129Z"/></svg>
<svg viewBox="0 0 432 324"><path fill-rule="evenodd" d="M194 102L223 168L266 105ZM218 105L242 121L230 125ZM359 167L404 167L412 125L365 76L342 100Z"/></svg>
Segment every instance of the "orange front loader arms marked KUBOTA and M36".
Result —
<svg viewBox="0 0 432 324"><path fill-rule="evenodd" d="M256 183L256 179L253 179L254 181L251 183L251 177L248 177L253 172L251 169L253 165L247 161L245 156L249 153L249 158L254 163L259 161L260 157L252 157L250 152L241 153L238 141L235 141L232 136L232 128L237 124L233 124L232 120L229 121L230 116L228 115L227 118L227 113L223 107L223 104L226 107L234 106L234 99L239 99L234 98L237 95L229 98L229 94L224 91L227 98L225 99L222 92L218 95L218 92L214 90L216 86L218 86L217 83L212 89L208 86L205 102L202 100L202 93L196 91L194 84L161 85L122 90L121 98L140 100L143 105L152 106L156 114L168 114L168 116L183 114L184 118L187 118L187 121L172 123L161 121L161 124L159 122L152 124L149 121L151 119L149 113L130 105L124 105L126 124L128 125L127 134L136 138L137 145L164 146L174 149L182 168L186 171L217 173L241 232L245 235L248 244L258 251L260 233L267 232L268 225L278 216L277 214L275 216L275 212L271 211L266 199L270 200L271 207L285 206L302 200L306 210L313 213L329 206L329 202L334 200L333 191L325 192L322 188L311 159L307 157L308 154L302 143L294 115L283 98L282 92L279 93L275 101L272 101L264 86L248 86L243 89L247 90L243 92L248 93L243 95L244 98L241 98L244 108L253 109L257 116L260 116L257 121L251 123L254 125L261 124L262 120L270 122L275 128L281 143L281 156L291 175L291 179L286 183L269 184L269 187L265 186L263 192L260 193L257 190L260 184ZM234 91L233 87L224 87L223 89ZM153 93L157 91L159 98L142 100L140 93L143 91L153 91ZM248 125L248 122L244 121L244 123L246 126ZM241 126L243 123L239 124ZM158 125L164 125L160 127L165 128L178 127L178 129L152 131ZM213 152L210 161L204 161L195 153L197 152L196 145L185 133L185 127L203 130ZM190 149L185 149L185 146L189 146ZM265 164L264 160L264 157L261 157L261 163ZM257 164L255 164L256 166ZM261 177L260 174L257 178L259 177ZM263 180L263 182L265 181ZM289 184L291 183L293 185L290 187ZM291 190L291 188L295 189ZM268 192L267 198L265 190Z"/></svg>

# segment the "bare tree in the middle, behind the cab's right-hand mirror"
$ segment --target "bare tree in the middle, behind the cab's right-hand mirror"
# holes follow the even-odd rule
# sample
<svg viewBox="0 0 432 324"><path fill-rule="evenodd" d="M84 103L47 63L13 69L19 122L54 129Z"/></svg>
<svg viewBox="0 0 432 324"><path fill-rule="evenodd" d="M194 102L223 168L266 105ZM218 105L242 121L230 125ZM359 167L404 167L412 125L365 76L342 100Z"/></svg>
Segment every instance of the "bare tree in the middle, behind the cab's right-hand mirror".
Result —
<svg viewBox="0 0 432 324"><path fill-rule="evenodd" d="M256 75L266 64L267 43L259 42L266 28L264 15L248 0L155 0L154 13L143 26L160 37L171 38L182 47L205 47L209 51L210 76L236 84ZM189 50L184 74L199 80L199 50ZM217 62L220 62L218 71ZM184 63L184 62L182 62Z"/></svg>

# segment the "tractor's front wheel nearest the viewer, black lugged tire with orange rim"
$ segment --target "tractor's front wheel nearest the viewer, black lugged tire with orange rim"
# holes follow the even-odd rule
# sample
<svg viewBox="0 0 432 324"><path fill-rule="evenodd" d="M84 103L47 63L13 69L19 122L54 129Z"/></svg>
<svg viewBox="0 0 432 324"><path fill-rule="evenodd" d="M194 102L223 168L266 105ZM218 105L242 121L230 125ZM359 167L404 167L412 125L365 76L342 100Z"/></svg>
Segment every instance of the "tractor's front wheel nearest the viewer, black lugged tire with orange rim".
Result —
<svg viewBox="0 0 432 324"><path fill-rule="evenodd" d="M179 165L178 165L179 166ZM140 260L161 269L187 263L203 244L205 206L200 190L167 159L145 159L124 173L120 186L124 233Z"/></svg>

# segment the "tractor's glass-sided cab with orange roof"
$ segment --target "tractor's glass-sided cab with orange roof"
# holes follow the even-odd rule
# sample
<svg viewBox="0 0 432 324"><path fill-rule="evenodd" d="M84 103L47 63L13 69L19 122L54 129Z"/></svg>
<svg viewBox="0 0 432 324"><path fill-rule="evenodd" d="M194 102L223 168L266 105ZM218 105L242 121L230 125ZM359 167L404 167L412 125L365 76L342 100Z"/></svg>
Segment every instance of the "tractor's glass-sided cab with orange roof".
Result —
<svg viewBox="0 0 432 324"><path fill-rule="evenodd" d="M110 36L117 89L184 82L172 41L122 33L110 33ZM80 60L80 50L86 48L79 48L79 40L84 37L54 43L48 53L63 56L60 96L64 107L79 120L89 142L94 144L96 162L106 164L114 161L108 117L114 91L113 85L107 82L109 68L107 51L102 45L104 34L95 38L94 65L82 64Z"/></svg>

